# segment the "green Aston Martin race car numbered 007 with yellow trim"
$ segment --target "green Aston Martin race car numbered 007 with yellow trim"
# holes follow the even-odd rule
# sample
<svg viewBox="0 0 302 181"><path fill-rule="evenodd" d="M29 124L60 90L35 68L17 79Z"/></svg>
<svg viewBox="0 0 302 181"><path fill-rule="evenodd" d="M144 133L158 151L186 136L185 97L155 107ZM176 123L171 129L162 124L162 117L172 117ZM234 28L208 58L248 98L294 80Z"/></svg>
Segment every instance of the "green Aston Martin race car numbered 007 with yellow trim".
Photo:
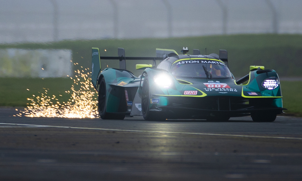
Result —
<svg viewBox="0 0 302 181"><path fill-rule="evenodd" d="M156 49L156 57L125 57L124 49L118 48L117 57L104 57L92 48L92 84L98 91L101 119L227 121L251 116L255 122L272 122L286 110L275 70L250 66L249 74L235 80L226 50L219 50L219 55L188 51L183 47L179 55L172 49ZM102 59L119 60L120 68L101 71ZM126 70L126 60L152 60L153 65L137 64L143 73L136 77Z"/></svg>

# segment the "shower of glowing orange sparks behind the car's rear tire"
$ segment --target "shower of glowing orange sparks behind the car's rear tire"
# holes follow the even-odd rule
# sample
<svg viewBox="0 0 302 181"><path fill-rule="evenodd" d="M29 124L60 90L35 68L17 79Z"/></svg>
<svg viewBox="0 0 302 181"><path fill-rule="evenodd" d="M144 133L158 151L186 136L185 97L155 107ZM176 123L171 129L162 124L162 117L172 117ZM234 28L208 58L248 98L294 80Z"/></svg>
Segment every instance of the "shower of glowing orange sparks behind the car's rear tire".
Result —
<svg viewBox="0 0 302 181"><path fill-rule="evenodd" d="M85 68L86 71L89 68ZM40 96L33 95L27 109L21 111L27 117L61 117L61 118L98 118L97 98L95 98L94 87L91 84L90 73L84 73L84 70L75 71L75 75L71 90L65 91L71 94L68 102L60 103L55 95L47 95L47 90ZM76 90L75 85L80 85ZM48 89L49 90L49 89ZM62 95L59 95L62 96ZM16 116L22 116L22 113Z"/></svg>

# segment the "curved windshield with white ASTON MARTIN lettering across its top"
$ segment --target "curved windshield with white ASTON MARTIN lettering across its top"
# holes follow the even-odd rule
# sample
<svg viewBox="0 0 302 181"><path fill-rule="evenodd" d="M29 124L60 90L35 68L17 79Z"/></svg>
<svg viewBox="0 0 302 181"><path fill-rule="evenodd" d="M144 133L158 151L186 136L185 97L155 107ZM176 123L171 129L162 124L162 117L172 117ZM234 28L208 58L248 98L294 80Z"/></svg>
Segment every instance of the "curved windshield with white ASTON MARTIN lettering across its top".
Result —
<svg viewBox="0 0 302 181"><path fill-rule="evenodd" d="M170 72L176 78L226 78L232 74L225 64L219 61L204 59L189 59L174 62Z"/></svg>

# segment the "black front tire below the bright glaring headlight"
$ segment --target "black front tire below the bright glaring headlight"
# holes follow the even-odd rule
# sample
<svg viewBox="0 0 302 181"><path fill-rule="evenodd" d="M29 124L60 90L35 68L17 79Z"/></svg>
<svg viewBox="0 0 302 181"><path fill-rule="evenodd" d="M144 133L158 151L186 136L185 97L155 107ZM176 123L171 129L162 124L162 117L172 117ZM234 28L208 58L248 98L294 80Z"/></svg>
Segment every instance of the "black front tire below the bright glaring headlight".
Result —
<svg viewBox="0 0 302 181"><path fill-rule="evenodd" d="M145 120L149 121L163 121L165 120L161 113L150 111L150 97L149 97L149 81L148 76L145 76L142 90L142 113Z"/></svg>

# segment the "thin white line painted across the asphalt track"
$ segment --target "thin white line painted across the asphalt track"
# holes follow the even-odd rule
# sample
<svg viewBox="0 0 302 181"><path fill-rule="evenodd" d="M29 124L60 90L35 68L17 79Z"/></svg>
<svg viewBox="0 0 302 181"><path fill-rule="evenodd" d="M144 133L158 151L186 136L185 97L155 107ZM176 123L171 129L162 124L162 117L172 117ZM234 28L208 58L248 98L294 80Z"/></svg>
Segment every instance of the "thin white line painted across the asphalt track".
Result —
<svg viewBox="0 0 302 181"><path fill-rule="evenodd" d="M52 128L92 129L92 130L103 130L103 131L147 132L147 133L166 133L166 134L213 135L213 136L233 136L233 137L246 137L246 138L276 138L276 139L296 139L296 140L302 140L302 138L279 137L279 136L256 136L256 135L252 136L252 135L232 135L232 134L218 134L218 133L142 131L142 130L128 130L128 129L82 128L82 127L69 127L69 126L31 125L31 124L13 124L13 123L0 123L0 124L2 124L2 125L40 126L40 127L52 127Z"/></svg>

